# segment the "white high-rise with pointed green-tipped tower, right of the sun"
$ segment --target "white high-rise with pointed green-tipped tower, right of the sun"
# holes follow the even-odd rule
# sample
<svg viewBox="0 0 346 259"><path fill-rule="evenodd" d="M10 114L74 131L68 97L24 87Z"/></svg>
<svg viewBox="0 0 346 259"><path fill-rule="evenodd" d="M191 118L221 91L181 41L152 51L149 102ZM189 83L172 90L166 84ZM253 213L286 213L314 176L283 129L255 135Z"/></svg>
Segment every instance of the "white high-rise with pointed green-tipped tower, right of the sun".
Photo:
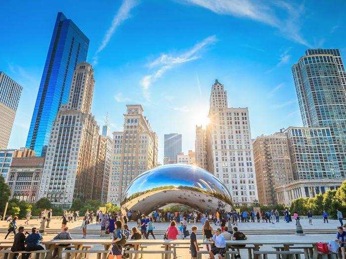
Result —
<svg viewBox="0 0 346 259"><path fill-rule="evenodd" d="M217 79L210 95L207 126L208 171L229 189L235 204L258 201L248 108L228 108L227 93Z"/></svg>

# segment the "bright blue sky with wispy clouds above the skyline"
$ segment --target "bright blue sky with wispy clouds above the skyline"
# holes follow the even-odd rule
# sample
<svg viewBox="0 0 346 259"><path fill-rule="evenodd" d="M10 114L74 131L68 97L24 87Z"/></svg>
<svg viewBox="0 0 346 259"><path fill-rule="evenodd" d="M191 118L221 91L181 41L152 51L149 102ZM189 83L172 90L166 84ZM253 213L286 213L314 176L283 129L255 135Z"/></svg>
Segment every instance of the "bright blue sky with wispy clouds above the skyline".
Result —
<svg viewBox="0 0 346 259"><path fill-rule="evenodd" d="M194 149L216 78L230 107L249 108L256 138L302 125L291 66L306 48L346 53L343 0L6 0L0 71L23 86L8 148L25 145L58 11L90 39L99 124L108 112L112 131L122 130L125 105L142 104L160 162L166 133Z"/></svg>

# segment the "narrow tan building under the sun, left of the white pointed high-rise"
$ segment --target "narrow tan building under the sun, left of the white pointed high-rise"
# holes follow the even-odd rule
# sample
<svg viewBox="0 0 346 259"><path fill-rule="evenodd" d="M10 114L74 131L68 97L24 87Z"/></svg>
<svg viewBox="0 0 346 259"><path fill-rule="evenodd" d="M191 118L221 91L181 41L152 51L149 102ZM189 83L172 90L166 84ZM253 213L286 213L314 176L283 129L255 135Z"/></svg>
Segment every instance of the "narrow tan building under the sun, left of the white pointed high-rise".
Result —
<svg viewBox="0 0 346 259"><path fill-rule="evenodd" d="M202 126L196 125L196 140L195 140L195 152L196 152L196 165L208 170L207 163L207 135L206 130Z"/></svg>

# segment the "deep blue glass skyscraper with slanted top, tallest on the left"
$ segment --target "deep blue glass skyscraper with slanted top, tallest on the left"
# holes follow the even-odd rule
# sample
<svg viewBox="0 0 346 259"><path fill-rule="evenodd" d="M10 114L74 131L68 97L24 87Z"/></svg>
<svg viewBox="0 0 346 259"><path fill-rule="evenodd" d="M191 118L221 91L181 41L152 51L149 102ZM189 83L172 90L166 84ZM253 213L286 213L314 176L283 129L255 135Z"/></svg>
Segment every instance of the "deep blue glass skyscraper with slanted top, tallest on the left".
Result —
<svg viewBox="0 0 346 259"><path fill-rule="evenodd" d="M77 64L87 60L88 46L83 32L58 12L26 141L38 156L44 154L55 116L68 100Z"/></svg>

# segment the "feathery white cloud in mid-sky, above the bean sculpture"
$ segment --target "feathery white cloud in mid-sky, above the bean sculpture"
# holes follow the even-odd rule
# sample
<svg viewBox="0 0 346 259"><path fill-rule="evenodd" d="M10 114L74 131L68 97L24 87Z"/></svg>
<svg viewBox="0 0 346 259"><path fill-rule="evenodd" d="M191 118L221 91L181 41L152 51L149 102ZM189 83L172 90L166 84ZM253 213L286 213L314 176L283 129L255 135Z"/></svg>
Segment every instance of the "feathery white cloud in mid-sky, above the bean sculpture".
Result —
<svg viewBox="0 0 346 259"><path fill-rule="evenodd" d="M210 36L198 42L191 49L179 54L161 54L161 56L152 62L150 62L147 66L149 69L154 70L153 73L145 75L140 80L140 85L142 86L143 96L146 100L150 100L149 87L155 82L158 78L160 78L165 72L170 69L173 69L175 66L179 64L183 64L192 60L199 59L200 56L197 56L198 52L201 51L204 47L216 42L216 36Z"/></svg>

